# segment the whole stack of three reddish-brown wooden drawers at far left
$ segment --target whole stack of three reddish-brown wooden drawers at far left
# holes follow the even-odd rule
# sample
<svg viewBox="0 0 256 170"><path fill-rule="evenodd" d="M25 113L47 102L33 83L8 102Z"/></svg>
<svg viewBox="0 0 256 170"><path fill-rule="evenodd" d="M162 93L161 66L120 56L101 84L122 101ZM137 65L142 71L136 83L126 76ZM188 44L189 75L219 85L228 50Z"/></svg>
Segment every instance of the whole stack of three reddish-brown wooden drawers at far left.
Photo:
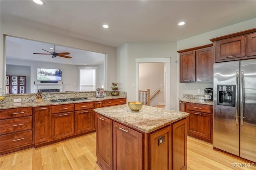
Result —
<svg viewBox="0 0 256 170"><path fill-rule="evenodd" d="M34 146L32 107L1 110L0 154L32 146Z"/></svg>

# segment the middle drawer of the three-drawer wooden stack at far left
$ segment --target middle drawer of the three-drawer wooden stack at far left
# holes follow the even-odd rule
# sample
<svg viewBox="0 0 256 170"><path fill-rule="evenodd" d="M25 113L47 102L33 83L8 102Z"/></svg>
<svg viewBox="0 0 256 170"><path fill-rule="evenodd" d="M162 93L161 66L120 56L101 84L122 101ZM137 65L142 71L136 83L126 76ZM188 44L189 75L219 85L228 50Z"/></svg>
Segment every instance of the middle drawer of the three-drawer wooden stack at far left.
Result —
<svg viewBox="0 0 256 170"><path fill-rule="evenodd" d="M0 134L32 129L32 116L4 119L0 121ZM2 140L2 139L1 139Z"/></svg>

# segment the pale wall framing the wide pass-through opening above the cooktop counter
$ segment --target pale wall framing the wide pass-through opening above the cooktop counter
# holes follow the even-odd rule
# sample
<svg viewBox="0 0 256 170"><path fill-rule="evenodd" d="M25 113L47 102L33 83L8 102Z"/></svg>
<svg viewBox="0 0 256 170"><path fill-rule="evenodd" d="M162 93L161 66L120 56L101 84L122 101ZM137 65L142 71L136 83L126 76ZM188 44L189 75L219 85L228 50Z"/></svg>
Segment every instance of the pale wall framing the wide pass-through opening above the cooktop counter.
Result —
<svg viewBox="0 0 256 170"><path fill-rule="evenodd" d="M0 23L0 87L5 86L6 59L4 58L4 35L20 37L45 43L62 45L87 51L93 51L102 54L108 54L108 89L111 89L112 83L116 82L116 48L108 45L102 45L91 41L86 41L67 35L62 35L47 31L38 27L28 26L19 21L2 20ZM78 71L76 73L78 75ZM66 81L66 80L65 80ZM73 85L74 86L74 85Z"/></svg>

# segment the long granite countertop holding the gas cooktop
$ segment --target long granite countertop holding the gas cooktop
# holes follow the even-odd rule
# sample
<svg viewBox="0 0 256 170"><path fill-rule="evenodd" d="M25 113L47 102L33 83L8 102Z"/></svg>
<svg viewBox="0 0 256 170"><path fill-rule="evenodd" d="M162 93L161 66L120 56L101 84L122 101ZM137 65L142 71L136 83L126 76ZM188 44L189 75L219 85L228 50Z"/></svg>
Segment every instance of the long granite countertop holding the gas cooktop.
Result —
<svg viewBox="0 0 256 170"><path fill-rule="evenodd" d="M96 97L90 97L88 99L90 100L79 100L79 101L71 101L71 102L58 102L58 103L52 103L50 100L43 100L42 102L24 102L24 103L14 103L14 102L8 102L8 103L1 103L0 109L12 109L12 108L18 108L18 107L38 107L38 106L50 106L50 105L60 105L60 104L74 104L74 103L83 103L83 102L94 102L94 101L103 101L108 99L119 99L119 98L126 98L124 96L105 96L104 98L96 98Z"/></svg>

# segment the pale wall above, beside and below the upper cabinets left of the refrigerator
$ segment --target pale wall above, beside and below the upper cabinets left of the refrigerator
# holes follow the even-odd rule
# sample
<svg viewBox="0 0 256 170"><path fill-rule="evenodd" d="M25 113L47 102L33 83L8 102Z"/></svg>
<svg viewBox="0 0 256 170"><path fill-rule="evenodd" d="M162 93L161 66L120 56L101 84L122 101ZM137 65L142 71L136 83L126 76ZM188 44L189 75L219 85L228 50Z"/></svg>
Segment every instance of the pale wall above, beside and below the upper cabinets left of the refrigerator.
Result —
<svg viewBox="0 0 256 170"><path fill-rule="evenodd" d="M248 21L244 21L241 23L236 23L234 25L230 25L228 27L223 27L220 29L216 29L214 31L210 31L207 33L203 33L200 35L196 35L194 37L182 39L177 41L177 51L182 49L188 49L192 47L198 47L206 44L212 43L210 39L220 37L223 35L228 35L240 31L244 31L247 29L252 29L256 27L256 18ZM212 87L213 83L179 83L179 75L180 75L180 56L177 53L177 96L178 98L182 97L182 94L196 94L196 95L204 95L204 88ZM197 89L201 89L201 93L197 93ZM177 102L178 108L178 102Z"/></svg>

